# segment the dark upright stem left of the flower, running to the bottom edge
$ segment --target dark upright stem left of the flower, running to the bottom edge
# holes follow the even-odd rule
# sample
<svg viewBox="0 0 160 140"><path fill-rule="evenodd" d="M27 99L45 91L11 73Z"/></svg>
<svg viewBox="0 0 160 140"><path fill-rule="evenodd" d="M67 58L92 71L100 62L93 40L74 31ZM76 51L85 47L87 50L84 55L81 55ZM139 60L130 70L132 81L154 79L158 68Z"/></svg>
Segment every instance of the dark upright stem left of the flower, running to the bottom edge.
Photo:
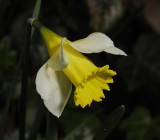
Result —
<svg viewBox="0 0 160 140"><path fill-rule="evenodd" d="M20 127L19 140L25 140L25 120L26 120L26 100L28 88L28 66L29 66L29 49L30 49L31 26L27 27L27 40L22 67L22 88L20 100Z"/></svg>

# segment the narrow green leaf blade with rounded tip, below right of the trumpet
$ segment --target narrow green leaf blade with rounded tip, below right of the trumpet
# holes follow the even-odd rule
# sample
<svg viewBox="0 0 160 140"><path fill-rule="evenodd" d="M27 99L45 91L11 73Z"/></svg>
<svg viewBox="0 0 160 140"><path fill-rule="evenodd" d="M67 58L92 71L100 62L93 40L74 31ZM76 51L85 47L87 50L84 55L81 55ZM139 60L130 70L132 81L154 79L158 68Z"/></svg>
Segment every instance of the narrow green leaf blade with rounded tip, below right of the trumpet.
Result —
<svg viewBox="0 0 160 140"><path fill-rule="evenodd" d="M124 112L125 107L122 105L109 114L109 116L102 123L102 126L99 128L93 140L104 140L119 123L124 115Z"/></svg>

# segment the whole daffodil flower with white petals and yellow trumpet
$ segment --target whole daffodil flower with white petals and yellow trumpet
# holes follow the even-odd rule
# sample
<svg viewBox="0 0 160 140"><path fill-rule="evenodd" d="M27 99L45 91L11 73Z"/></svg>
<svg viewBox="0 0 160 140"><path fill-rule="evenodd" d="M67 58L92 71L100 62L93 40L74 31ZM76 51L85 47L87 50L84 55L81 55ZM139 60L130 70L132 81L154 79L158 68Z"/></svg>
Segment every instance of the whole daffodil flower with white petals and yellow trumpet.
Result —
<svg viewBox="0 0 160 140"><path fill-rule="evenodd" d="M82 53L107 52L126 55L116 48L113 41L103 33L95 32L84 39L69 41L39 23L30 19L32 26L38 28L50 55L49 60L39 69L36 77L36 89L45 106L55 116L60 117L75 86L74 102L82 108L93 101L105 98L103 90L110 90L116 72L109 65L96 67Z"/></svg>

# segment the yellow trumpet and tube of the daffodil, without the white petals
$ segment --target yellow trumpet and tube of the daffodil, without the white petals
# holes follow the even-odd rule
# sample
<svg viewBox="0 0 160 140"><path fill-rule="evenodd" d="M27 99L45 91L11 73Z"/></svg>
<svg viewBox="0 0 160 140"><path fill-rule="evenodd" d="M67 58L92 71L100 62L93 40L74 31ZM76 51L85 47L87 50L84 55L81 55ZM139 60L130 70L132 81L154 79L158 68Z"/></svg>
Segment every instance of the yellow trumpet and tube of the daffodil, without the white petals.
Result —
<svg viewBox="0 0 160 140"><path fill-rule="evenodd" d="M52 57L60 49L62 37L45 27L42 27L40 32ZM62 71L76 87L75 105L81 105L84 108L86 105L90 106L93 100L100 102L105 98L103 89L110 90L108 83L113 83L112 76L116 75L116 72L110 70L109 65L102 68L96 67L87 57L72 48L69 42L66 40L63 44L69 64Z"/></svg>

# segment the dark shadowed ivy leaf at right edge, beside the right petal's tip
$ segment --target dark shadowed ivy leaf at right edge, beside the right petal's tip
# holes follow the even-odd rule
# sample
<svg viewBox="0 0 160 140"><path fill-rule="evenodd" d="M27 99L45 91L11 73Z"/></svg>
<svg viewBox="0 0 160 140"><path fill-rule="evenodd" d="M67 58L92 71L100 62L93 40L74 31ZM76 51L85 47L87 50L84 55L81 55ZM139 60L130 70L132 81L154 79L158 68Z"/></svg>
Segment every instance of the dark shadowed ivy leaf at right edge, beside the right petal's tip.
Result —
<svg viewBox="0 0 160 140"><path fill-rule="evenodd" d="M146 84L160 85L159 46L159 36L143 35L134 46L134 54L118 61L119 74L129 90Z"/></svg>

